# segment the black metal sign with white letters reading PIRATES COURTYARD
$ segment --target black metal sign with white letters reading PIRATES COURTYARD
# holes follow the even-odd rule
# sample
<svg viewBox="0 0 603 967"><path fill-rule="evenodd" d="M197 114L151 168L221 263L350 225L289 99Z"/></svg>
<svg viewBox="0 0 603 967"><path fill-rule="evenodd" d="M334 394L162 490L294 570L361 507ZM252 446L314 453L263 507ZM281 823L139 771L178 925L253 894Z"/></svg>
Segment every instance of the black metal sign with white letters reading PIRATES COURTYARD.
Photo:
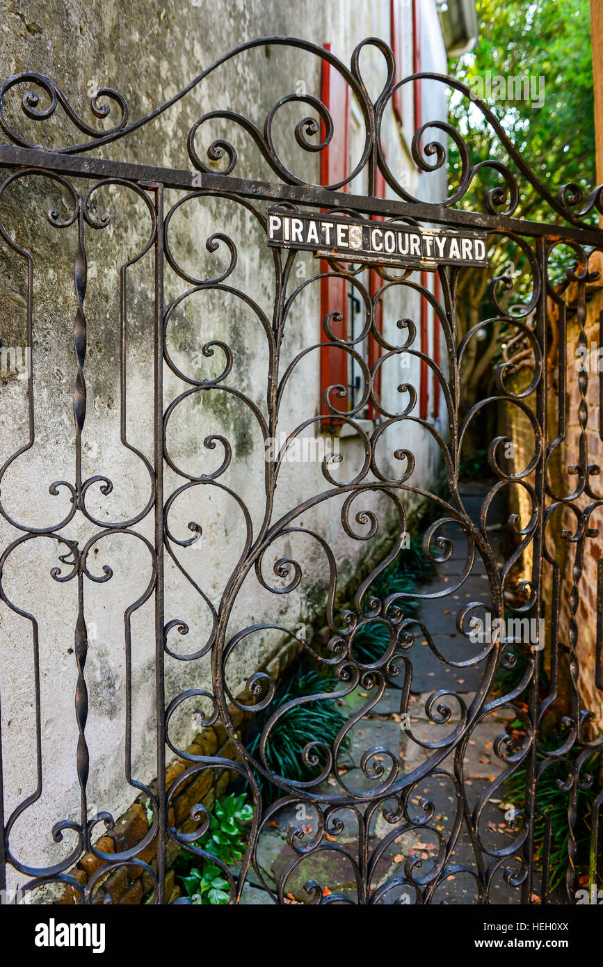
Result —
<svg viewBox="0 0 603 967"><path fill-rule="evenodd" d="M392 221L268 210L268 244L279 249L307 249L321 258L374 265L464 265L487 268L482 235L418 228Z"/></svg>

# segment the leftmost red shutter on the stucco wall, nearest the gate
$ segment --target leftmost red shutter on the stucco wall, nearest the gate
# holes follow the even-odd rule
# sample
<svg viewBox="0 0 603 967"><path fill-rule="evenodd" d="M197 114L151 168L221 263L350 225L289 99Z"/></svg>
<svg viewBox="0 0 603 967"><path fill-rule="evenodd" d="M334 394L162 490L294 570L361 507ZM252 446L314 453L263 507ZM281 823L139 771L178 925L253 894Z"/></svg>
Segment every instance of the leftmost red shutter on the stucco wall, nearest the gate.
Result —
<svg viewBox="0 0 603 967"><path fill-rule="evenodd" d="M330 50L330 44L325 44ZM321 153L321 184L334 185L348 174L348 111L350 92L341 74L323 61L321 100L330 112L333 123L333 136L330 144ZM323 126L321 136L325 137ZM347 186L340 190L347 190ZM321 261L321 273L330 272L329 263ZM323 328L323 319L328 312L341 312L343 318L337 322L330 320L330 329L337 338L346 338L348 333L348 290L343 278L321 278L321 340L330 339ZM321 411L326 412L322 396L329 386L345 386L347 396L331 394L330 402L335 409L345 413L350 408L348 388L348 353L334 346L321 349Z"/></svg>

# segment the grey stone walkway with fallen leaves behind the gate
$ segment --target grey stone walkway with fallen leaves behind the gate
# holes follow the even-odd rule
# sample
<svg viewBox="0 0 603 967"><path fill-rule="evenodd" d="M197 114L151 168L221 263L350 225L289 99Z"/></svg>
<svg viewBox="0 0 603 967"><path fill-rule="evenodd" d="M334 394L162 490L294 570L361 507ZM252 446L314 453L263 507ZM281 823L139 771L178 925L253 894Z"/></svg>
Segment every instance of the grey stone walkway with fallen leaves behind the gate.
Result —
<svg viewBox="0 0 603 967"><path fill-rule="evenodd" d="M468 512L476 521L483 499L485 488L468 484L465 487L464 499ZM493 508L494 512L494 508ZM489 517L489 526L493 530L499 528L504 520L501 512ZM445 532L443 532L445 533ZM445 564L438 567L437 575L421 588L422 593L435 593L443 590L446 585L451 588L458 581L465 563L466 547L461 532L456 528L456 534L450 530L448 535L453 540L453 553ZM493 541L494 543L494 541ZM481 559L474 562L471 573L458 592L453 592L445 598L424 601L418 620L430 631L434 643L441 654L448 660L467 660L477 654L480 646L473 645L456 628L456 614L460 607L468 601L489 601L488 580ZM421 742L433 743L444 739L453 730L459 720L458 703L454 697L445 699L449 702L451 716L444 724L437 724L429 718L425 711L430 695L437 689L450 689L462 696L467 706L471 704L475 689L481 678L483 663L469 668L456 668L438 659L424 640L420 630L416 631L415 643L406 653L413 665L412 697L410 705L410 721L408 723L410 736L402 728L400 721L400 690L395 681L391 682L379 701L371 710L371 715L365 715L351 731L351 748L349 762L340 769L340 775L353 788L374 788L374 781L368 779L360 770L360 758L367 748L381 746L390 749L399 756L400 770L403 774L413 772L429 756L429 750L421 747ZM400 676L402 677L402 676ZM370 699L366 691L356 689L345 699L346 712L354 713ZM438 704L438 703L436 703ZM432 718L437 713L432 713ZM509 713L491 716L477 726L470 739L464 760L465 788L469 799L470 811L479 796L487 788L489 782L502 770L502 762L494 754L493 747L497 738L504 731ZM390 768L387 754L381 756L385 775ZM453 755L448 755L440 766L441 770L453 773ZM330 784L337 783L330 778ZM334 791L334 790L329 790ZM411 802L415 804L416 816L421 812L420 797L424 797L433 805L432 826L447 841L451 834L457 808L455 786L449 777L442 774L431 774L416 785ZM369 856L378 843L390 833L394 826L388 824L383 816L383 809L377 811L369 825ZM358 819L352 810L341 810L337 813L343 828L337 835L328 836L327 842L338 844L345 852L326 850L309 855L300 867L287 880L286 893L290 902L307 902L308 894L303 889L307 880L314 880L321 889L330 893L347 894L355 901L357 899L356 883L353 866L345 854L355 859L358 856ZM305 816L294 809L281 811L273 826L263 833L258 848L259 865L266 882L275 889L278 876L286 865L293 859L294 853L286 842L286 835L292 823L302 825L306 840L311 839L317 829L315 810L307 808ZM480 830L488 846L501 848L512 841L508 824L504 820L504 804L495 797L484 811ZM487 837L490 837L489 839ZM404 864L409 858L413 862L420 860L420 868L415 869L415 877L426 875L438 857L438 835L433 830L416 830L399 835L383 852L377 862L373 878L373 889L392 876L404 875ZM492 858L485 858L486 865ZM454 851L448 864L463 864L475 869L475 854L472 842L463 822L458 835ZM398 887L387 894L383 902L393 903L401 894L408 894L405 902L415 902L414 892L408 887ZM518 903L519 891L507 886L502 877L502 869L495 879L491 900L494 903ZM268 894L257 882L256 873L251 870L248 885L245 887L243 902L246 904L271 903ZM475 903L476 891L474 877L468 873L450 877L436 894L435 902L447 903Z"/></svg>

